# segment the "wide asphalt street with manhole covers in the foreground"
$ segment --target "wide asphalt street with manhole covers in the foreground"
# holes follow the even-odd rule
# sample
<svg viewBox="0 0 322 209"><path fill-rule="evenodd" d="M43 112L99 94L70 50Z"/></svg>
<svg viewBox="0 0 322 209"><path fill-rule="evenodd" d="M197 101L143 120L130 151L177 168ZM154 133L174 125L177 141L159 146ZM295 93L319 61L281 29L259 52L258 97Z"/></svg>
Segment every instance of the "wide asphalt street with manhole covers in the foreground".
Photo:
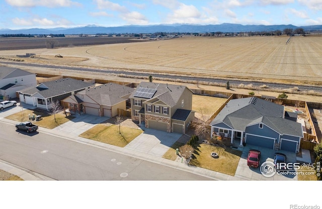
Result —
<svg viewBox="0 0 322 209"><path fill-rule="evenodd" d="M0 158L56 180L212 180L0 122Z"/></svg>

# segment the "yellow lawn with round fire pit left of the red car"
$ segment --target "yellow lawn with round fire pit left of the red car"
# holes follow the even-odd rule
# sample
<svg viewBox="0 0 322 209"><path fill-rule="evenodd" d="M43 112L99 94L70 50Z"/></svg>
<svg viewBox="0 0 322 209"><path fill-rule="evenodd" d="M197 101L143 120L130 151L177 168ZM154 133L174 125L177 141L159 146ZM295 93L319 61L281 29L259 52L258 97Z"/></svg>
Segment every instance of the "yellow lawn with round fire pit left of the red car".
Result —
<svg viewBox="0 0 322 209"><path fill-rule="evenodd" d="M212 152L216 152L219 158L211 157ZM191 165L234 176L241 151L229 147L200 144L194 152L194 156L190 161Z"/></svg>

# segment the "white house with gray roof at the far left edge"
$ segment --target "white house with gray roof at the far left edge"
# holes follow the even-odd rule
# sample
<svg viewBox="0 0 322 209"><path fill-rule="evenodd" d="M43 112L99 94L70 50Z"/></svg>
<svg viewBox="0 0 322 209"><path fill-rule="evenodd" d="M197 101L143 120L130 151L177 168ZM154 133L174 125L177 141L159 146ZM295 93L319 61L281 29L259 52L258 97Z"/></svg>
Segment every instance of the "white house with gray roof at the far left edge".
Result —
<svg viewBox="0 0 322 209"><path fill-rule="evenodd" d="M15 67L0 66L0 99L17 97L17 91L36 86L36 75Z"/></svg>

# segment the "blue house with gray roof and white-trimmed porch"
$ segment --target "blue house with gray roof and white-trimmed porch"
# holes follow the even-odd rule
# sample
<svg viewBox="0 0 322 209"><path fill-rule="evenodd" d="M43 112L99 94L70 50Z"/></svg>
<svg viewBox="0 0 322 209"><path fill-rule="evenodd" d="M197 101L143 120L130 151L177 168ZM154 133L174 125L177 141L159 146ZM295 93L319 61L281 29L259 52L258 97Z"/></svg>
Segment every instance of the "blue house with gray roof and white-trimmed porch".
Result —
<svg viewBox="0 0 322 209"><path fill-rule="evenodd" d="M257 97L230 100L210 126L211 136L220 135L241 146L245 142L297 153L303 138L301 124L284 106Z"/></svg>

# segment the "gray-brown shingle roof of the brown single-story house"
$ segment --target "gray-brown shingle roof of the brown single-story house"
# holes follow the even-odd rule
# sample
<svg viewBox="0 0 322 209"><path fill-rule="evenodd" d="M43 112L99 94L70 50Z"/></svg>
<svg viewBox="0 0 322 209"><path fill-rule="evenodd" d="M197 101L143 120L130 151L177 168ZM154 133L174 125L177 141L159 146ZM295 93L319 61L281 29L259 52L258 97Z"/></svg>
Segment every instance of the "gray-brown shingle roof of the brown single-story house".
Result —
<svg viewBox="0 0 322 209"><path fill-rule="evenodd" d="M113 106L121 101L126 100L126 96L134 91L134 88L120 85L117 83L106 83L100 86L89 88L79 93L85 93L98 104Z"/></svg>

